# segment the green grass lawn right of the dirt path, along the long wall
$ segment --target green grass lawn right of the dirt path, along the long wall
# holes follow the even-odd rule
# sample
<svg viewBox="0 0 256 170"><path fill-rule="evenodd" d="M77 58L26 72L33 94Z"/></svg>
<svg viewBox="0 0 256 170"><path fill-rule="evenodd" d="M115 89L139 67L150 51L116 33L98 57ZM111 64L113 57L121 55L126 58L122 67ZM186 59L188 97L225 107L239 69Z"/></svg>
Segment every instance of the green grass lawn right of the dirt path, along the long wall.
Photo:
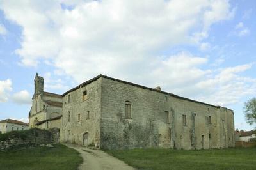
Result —
<svg viewBox="0 0 256 170"><path fill-rule="evenodd" d="M134 149L106 152L138 169L256 169L256 148Z"/></svg>

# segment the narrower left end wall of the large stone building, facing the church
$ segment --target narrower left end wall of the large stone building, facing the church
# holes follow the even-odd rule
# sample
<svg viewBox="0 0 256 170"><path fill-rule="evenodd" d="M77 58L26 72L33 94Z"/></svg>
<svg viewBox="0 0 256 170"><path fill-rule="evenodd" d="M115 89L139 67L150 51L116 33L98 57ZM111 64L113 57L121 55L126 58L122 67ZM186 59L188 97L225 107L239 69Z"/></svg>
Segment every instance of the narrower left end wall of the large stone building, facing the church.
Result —
<svg viewBox="0 0 256 170"><path fill-rule="evenodd" d="M97 79L97 81L67 93L63 97L60 137L62 142L99 146L100 83L101 79ZM86 91L87 95L83 100L84 91ZM68 95L70 95L70 102L68 102ZM68 122L68 111L70 111L70 122ZM78 114L80 114L80 120L78 120ZM84 139L85 133L87 133L85 137L87 139Z"/></svg>

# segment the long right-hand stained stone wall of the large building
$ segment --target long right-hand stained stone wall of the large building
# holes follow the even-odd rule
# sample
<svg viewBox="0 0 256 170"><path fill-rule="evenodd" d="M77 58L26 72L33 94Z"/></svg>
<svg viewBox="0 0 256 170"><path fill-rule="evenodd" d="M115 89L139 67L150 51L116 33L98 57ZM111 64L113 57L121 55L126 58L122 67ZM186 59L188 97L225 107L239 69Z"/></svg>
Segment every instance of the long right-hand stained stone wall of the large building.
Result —
<svg viewBox="0 0 256 170"><path fill-rule="evenodd" d="M125 119L127 100L131 102L132 119ZM102 78L101 108L101 148L234 146L234 115L229 109L105 78ZM170 123L165 123L165 111L170 112ZM186 115L185 126L182 115Z"/></svg>

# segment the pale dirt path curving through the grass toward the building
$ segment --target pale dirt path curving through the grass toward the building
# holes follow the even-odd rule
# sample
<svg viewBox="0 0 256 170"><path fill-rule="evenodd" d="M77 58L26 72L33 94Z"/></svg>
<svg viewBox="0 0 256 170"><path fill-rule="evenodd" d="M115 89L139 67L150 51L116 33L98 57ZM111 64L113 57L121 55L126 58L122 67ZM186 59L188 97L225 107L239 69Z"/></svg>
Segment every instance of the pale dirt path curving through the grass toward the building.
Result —
<svg viewBox="0 0 256 170"><path fill-rule="evenodd" d="M112 157L101 150L91 150L82 146L77 146L74 144L65 144L69 148L77 150L83 157L83 164L81 164L78 169L80 170L101 170L101 169L124 169L130 170L134 169L131 166L128 166L121 160L118 160L115 157Z"/></svg>

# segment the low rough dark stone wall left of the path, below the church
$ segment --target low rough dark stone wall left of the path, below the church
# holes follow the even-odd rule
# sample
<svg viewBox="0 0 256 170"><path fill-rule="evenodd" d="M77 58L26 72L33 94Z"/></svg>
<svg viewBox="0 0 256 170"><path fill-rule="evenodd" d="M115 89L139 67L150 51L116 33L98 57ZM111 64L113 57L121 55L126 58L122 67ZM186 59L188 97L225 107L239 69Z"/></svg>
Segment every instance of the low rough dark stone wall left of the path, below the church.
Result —
<svg viewBox="0 0 256 170"><path fill-rule="evenodd" d="M6 150L15 146L36 146L40 144L59 143L60 130L40 130L33 128L26 131L10 132L7 139L0 138L0 150ZM3 134L7 135L7 134Z"/></svg>

